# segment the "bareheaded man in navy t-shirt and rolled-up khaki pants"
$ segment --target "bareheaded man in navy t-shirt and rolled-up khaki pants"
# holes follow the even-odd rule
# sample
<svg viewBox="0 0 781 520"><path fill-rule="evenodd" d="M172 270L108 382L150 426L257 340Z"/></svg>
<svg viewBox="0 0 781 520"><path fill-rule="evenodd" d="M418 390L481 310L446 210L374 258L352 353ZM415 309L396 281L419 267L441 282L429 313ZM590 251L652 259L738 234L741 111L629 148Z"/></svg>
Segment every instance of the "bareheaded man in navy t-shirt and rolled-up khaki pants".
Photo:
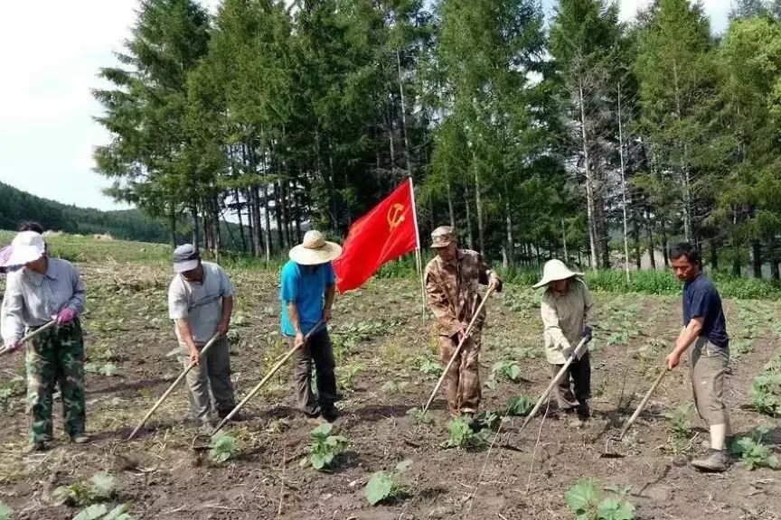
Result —
<svg viewBox="0 0 781 520"><path fill-rule="evenodd" d="M702 273L700 252L683 243L670 250L673 271L683 284L683 330L665 364L672 370L681 356L690 354L692 389L697 413L710 427L710 452L692 460L703 471L724 471L728 456L724 450L729 431L729 413L724 405L724 375L729 365L729 337L721 297Z"/></svg>

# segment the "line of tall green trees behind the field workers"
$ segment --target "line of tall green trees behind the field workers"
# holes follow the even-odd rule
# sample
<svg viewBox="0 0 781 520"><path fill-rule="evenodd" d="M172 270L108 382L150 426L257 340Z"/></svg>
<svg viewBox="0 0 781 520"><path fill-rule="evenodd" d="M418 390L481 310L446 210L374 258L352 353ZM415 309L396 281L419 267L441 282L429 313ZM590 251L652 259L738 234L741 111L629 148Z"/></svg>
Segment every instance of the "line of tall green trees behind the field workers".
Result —
<svg viewBox="0 0 781 520"><path fill-rule="evenodd" d="M778 278L781 1L143 0L94 95L108 193L211 249L343 237L408 176L421 234L503 265L558 255ZM645 259L645 260L644 260Z"/></svg>

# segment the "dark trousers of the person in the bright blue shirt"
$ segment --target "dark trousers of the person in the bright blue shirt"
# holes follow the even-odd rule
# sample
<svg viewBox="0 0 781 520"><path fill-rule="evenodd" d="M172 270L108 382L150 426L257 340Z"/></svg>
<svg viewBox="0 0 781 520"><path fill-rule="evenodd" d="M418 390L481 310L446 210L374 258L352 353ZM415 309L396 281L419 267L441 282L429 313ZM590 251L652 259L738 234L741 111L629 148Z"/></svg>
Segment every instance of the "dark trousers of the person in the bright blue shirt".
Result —
<svg viewBox="0 0 781 520"><path fill-rule="evenodd" d="M295 339L287 338L290 348ZM322 408L334 405L336 401L336 374L334 369L334 346L328 336L328 330L315 332L299 348L294 356L293 382L296 387L296 403L301 410L312 413L315 411L315 395L312 394L312 363L315 363L317 374L317 401Z"/></svg>

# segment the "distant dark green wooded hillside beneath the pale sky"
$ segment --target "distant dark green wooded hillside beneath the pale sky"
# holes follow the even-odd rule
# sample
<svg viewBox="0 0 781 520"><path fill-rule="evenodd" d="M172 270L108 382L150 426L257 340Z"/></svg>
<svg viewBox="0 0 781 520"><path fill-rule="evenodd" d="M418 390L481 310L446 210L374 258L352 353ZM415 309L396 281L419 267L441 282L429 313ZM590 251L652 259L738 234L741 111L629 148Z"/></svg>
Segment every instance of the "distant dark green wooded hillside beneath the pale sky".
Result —
<svg viewBox="0 0 781 520"><path fill-rule="evenodd" d="M78 208L35 197L0 182L0 229L14 230L24 220L34 220L40 222L43 228L66 233L109 233L125 240L169 242L165 226L137 209L100 211Z"/></svg>

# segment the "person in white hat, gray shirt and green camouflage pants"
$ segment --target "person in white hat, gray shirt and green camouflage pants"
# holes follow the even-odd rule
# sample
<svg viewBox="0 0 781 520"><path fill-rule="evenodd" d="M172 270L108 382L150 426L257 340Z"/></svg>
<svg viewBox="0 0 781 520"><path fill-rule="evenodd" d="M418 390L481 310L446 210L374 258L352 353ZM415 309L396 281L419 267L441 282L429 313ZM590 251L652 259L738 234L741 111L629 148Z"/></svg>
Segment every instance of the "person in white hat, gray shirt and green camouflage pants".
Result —
<svg viewBox="0 0 781 520"><path fill-rule="evenodd" d="M27 408L32 415L31 450L45 450L52 441L52 393L59 383L65 432L71 441L85 435L84 342L79 314L85 290L70 262L46 255L43 237L19 233L8 265L24 265L8 274L2 307L3 340L7 350L22 347L24 330L36 330L50 320L56 326L27 343Z"/></svg>

